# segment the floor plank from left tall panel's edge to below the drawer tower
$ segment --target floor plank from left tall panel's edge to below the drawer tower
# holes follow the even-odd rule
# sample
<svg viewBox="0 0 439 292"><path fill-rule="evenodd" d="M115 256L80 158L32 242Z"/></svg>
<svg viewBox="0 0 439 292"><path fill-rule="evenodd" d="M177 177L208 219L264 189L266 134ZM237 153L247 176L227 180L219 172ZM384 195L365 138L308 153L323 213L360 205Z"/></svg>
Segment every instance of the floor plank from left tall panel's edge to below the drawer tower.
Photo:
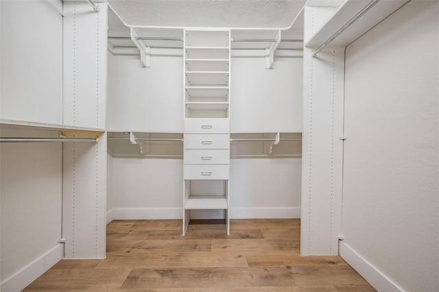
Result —
<svg viewBox="0 0 439 292"><path fill-rule="evenodd" d="M211 241L198 240L135 240L109 241L107 252L210 252Z"/></svg>

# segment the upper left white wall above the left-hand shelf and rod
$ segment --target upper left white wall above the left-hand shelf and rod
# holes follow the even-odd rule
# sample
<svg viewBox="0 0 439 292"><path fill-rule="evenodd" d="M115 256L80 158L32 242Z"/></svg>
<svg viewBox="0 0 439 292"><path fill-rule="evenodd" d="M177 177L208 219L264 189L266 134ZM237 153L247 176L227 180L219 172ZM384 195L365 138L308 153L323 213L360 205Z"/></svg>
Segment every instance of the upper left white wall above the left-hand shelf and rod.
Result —
<svg viewBox="0 0 439 292"><path fill-rule="evenodd" d="M61 0L1 1L1 119L62 124Z"/></svg>

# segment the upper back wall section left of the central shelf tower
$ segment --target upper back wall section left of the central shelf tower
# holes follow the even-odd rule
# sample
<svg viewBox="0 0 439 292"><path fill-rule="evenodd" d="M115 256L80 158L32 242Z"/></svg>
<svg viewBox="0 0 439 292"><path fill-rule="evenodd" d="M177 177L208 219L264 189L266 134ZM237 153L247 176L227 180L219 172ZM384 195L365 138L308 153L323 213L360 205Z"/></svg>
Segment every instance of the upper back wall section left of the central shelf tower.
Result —
<svg viewBox="0 0 439 292"><path fill-rule="evenodd" d="M150 68L108 53L108 130L183 132L182 51L165 51L176 56L152 56Z"/></svg>

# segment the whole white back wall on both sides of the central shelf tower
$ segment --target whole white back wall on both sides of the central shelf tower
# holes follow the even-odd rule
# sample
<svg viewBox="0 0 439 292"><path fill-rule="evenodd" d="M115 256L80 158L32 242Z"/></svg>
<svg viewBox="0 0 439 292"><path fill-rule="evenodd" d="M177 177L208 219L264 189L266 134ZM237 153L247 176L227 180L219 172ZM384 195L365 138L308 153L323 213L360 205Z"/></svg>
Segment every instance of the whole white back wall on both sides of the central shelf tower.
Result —
<svg viewBox="0 0 439 292"><path fill-rule="evenodd" d="M141 66L139 56L108 54L110 130L182 133L182 56L178 49L161 52L162 56L152 56L150 68ZM240 54L232 60L231 130L301 131L301 51L277 56L273 69L265 69L262 57ZM182 159L140 158L138 149L132 158L121 157L130 154L129 149L122 151L122 143L117 147L113 141L109 143L114 218L181 218ZM126 143L127 148L131 146ZM234 146L233 151L246 154L254 150L247 146ZM178 147L182 149L182 145ZM261 156L263 147L259 151ZM182 155L175 149L172 152ZM231 217L299 217L300 147L294 147L294 155L288 158L262 156L231 160Z"/></svg>

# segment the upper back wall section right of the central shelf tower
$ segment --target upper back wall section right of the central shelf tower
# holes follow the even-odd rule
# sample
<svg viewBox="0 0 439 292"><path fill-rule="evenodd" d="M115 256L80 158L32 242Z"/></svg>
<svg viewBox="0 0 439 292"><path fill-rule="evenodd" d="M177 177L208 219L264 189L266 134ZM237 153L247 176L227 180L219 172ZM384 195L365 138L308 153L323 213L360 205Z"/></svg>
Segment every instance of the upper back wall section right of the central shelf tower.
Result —
<svg viewBox="0 0 439 292"><path fill-rule="evenodd" d="M230 132L302 132L302 57L233 57Z"/></svg>

